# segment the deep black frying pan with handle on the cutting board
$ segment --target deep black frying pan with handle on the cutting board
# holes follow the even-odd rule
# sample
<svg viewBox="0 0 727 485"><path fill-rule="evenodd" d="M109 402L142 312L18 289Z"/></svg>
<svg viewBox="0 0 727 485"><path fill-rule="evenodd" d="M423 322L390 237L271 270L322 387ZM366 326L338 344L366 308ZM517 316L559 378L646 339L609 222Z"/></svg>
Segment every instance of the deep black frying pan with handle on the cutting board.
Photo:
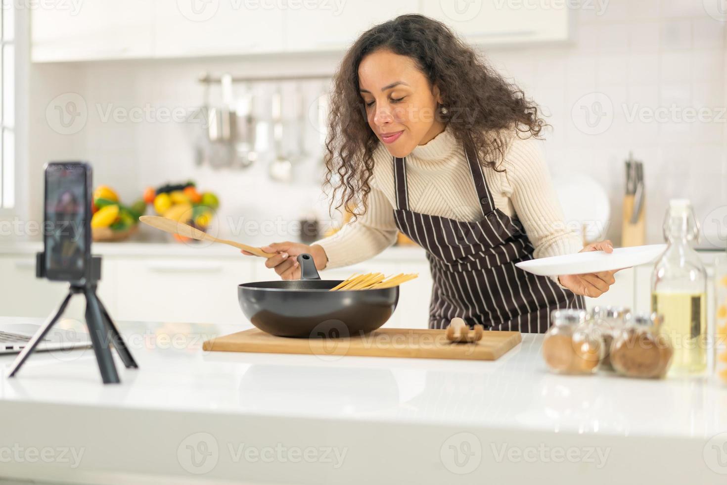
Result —
<svg viewBox="0 0 727 485"><path fill-rule="evenodd" d="M371 332L386 323L399 300L399 287L329 289L342 280L322 280L310 254L300 254L300 279L238 285L242 313L263 332L280 337L342 337Z"/></svg>

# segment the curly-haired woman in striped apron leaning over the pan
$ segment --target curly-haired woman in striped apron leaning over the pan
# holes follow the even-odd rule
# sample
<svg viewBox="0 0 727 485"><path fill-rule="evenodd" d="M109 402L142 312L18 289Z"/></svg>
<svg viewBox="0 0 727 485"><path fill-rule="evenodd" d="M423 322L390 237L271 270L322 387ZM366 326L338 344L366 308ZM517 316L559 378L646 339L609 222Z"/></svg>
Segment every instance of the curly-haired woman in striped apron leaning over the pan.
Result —
<svg viewBox="0 0 727 485"><path fill-rule="evenodd" d="M265 263L300 278L295 260L351 265L382 252L398 231L427 251L430 328L451 318L486 329L545 332L550 311L584 308L614 272L534 276L515 267L582 247L563 223L537 149L544 122L442 23L402 15L361 35L334 77L326 184L356 207L341 231L307 246L279 242ZM333 205L333 203L332 203Z"/></svg>

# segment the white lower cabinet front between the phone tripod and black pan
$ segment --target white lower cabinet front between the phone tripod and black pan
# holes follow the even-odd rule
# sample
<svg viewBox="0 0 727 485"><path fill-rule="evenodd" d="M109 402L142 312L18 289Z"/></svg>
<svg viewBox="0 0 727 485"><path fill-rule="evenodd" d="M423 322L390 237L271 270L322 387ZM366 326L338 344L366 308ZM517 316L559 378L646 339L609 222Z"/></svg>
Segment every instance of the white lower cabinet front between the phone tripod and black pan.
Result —
<svg viewBox="0 0 727 485"><path fill-rule="evenodd" d="M255 266L230 258L124 258L116 273L115 318L243 323L237 285L254 280Z"/></svg>

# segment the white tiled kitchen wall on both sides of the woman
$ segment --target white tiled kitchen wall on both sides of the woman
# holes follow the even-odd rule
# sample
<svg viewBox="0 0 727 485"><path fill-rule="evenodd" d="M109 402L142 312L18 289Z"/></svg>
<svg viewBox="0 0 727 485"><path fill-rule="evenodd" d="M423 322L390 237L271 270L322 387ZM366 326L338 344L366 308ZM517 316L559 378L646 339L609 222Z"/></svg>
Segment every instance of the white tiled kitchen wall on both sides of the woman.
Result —
<svg viewBox="0 0 727 485"><path fill-rule="evenodd" d="M702 3L611 0L603 15L580 12L575 16L572 43L486 52L494 65L521 84L550 115L553 129L548 130L543 148L552 172L585 172L603 183L615 216L607 236L615 241L620 238L623 161L629 151L646 164L648 241L662 239L662 214L671 197L694 199L701 217L727 204L727 115L722 114L718 121L691 123L673 116L664 122L629 119L635 111L668 110L672 105L678 112L709 108L715 114L727 105L726 28L705 13ZM42 116L33 116L31 133L47 137L42 146L31 148L36 167L31 180L40 180L38 167L47 159L75 156L95 163L97 183L111 183L126 197L135 196L145 185L194 178L220 193L223 214L295 219L315 204L324 216L316 169L320 134L313 124L306 128L311 156L299 171L300 183L281 185L268 180L263 164L246 172L196 167L196 134L188 126L158 121L103 122L97 106L102 113L109 104L191 108L203 99L196 82L202 70L320 73L332 72L337 60L335 56L298 56L35 66L35 75L46 79L33 84L35 108L43 110L47 101L72 89L84 95L89 120L78 134L60 137L49 133ZM52 82L55 76L63 82ZM70 86L69 77L73 79ZM263 95L269 95L269 87L261 89ZM308 84L306 89L310 104L321 85ZM571 111L574 103L593 92L603 93L611 101L613 121L603 132L588 135L582 131L584 113L576 110L574 117ZM264 116L264 104L259 107L260 116ZM54 151L56 145L60 148ZM33 200L33 204L33 211L39 213L39 202Z"/></svg>

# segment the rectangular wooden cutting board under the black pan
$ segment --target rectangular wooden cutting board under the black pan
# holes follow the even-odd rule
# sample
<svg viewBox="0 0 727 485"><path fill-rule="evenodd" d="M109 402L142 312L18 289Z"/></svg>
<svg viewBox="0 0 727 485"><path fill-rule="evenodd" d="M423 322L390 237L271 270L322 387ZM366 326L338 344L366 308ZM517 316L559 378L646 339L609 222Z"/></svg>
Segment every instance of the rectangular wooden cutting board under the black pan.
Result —
<svg viewBox="0 0 727 485"><path fill-rule="evenodd" d="M522 340L520 332L485 332L475 343L452 343L444 330L377 329L342 338L276 337L259 329L204 342L204 350L224 352L302 353L317 356L457 358L494 361Z"/></svg>

